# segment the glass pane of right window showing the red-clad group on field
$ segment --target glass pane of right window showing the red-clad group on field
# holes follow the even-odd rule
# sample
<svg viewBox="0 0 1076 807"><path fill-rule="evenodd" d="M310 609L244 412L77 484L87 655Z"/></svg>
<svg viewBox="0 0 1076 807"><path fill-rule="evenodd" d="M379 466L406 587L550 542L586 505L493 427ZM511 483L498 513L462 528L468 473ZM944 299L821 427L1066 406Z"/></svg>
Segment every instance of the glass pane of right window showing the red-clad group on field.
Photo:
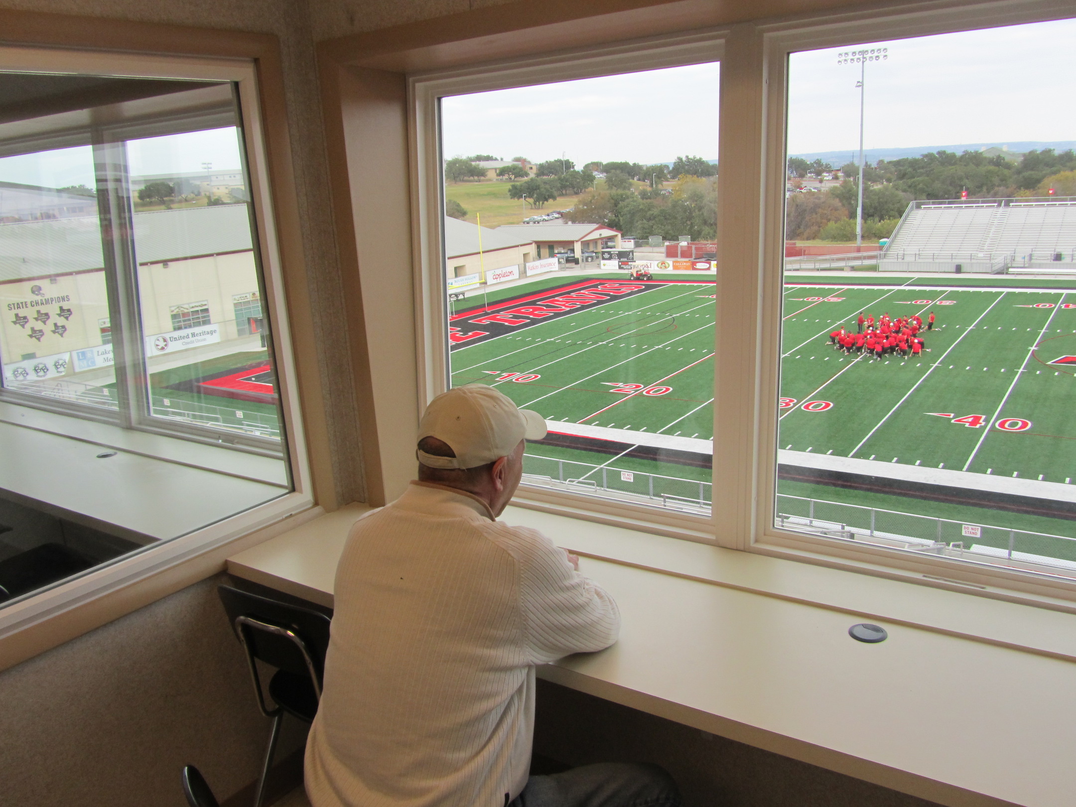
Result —
<svg viewBox="0 0 1076 807"><path fill-rule="evenodd" d="M1076 575L1074 36L791 54L778 526Z"/></svg>

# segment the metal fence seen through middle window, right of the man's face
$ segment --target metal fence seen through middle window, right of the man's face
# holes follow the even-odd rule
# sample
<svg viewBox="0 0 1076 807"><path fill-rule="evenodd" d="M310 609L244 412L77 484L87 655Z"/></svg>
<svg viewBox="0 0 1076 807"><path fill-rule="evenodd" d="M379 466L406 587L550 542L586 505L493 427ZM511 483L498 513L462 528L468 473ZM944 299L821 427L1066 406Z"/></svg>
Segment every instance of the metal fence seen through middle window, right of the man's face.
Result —
<svg viewBox="0 0 1076 807"><path fill-rule="evenodd" d="M674 509L708 511L712 499L709 482L534 454L523 455L523 473L532 484L643 500Z"/></svg>

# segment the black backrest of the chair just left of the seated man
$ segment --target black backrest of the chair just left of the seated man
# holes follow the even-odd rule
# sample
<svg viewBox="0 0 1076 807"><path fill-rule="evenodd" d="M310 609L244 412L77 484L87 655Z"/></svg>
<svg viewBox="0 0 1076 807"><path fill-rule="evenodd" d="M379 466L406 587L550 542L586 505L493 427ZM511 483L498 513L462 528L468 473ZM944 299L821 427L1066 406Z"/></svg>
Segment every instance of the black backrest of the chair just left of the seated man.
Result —
<svg viewBox="0 0 1076 807"><path fill-rule="evenodd" d="M315 675L314 685L320 691L329 647L331 623L328 617L230 585L217 586L216 591L231 629L251 655L300 676L310 675L309 655Z"/></svg>

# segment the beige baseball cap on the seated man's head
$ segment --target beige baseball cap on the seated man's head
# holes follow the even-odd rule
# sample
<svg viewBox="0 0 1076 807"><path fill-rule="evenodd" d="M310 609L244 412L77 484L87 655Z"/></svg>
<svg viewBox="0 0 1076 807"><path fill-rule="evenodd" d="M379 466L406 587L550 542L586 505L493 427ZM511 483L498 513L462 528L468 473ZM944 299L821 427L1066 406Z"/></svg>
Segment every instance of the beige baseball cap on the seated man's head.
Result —
<svg viewBox="0 0 1076 807"><path fill-rule="evenodd" d="M540 440L546 421L520 409L511 398L485 384L466 384L441 393L426 407L419 423L419 440L436 437L455 456L416 451L430 468L476 468L511 454L520 440Z"/></svg>

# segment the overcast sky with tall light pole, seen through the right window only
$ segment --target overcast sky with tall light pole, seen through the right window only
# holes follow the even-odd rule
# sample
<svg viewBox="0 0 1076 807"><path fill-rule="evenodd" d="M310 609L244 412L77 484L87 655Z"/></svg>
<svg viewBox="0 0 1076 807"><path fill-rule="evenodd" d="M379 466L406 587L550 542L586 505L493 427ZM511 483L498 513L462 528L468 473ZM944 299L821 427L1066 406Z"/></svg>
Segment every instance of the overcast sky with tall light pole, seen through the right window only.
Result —
<svg viewBox="0 0 1076 807"><path fill-rule="evenodd" d="M864 146L1076 140L1076 20L879 42L867 62ZM847 47L793 54L789 153L858 150L859 66Z"/></svg>

